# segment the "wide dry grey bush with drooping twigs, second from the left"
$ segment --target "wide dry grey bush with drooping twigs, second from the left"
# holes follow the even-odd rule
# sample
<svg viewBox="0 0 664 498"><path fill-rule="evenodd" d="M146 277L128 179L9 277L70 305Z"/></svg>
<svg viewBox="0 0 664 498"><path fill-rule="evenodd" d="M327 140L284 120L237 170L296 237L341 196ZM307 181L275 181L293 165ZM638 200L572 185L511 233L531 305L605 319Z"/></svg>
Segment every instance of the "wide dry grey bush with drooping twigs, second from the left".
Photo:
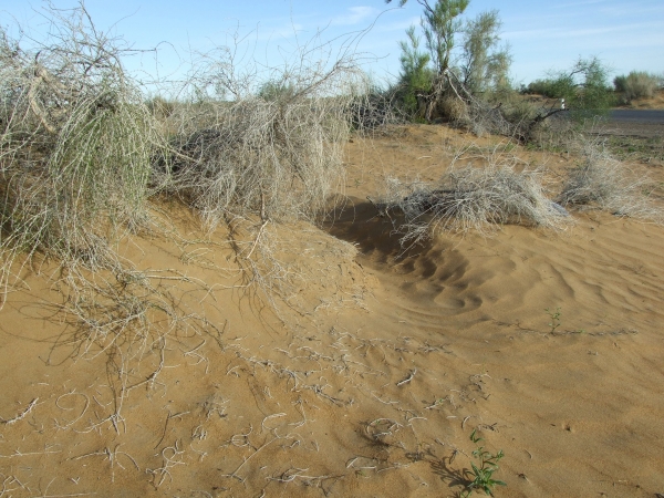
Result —
<svg viewBox="0 0 664 498"><path fill-rule="evenodd" d="M342 174L349 133L343 104L248 97L210 104L195 128L183 122L173 145L169 189L207 227L225 216L312 217Z"/></svg>

